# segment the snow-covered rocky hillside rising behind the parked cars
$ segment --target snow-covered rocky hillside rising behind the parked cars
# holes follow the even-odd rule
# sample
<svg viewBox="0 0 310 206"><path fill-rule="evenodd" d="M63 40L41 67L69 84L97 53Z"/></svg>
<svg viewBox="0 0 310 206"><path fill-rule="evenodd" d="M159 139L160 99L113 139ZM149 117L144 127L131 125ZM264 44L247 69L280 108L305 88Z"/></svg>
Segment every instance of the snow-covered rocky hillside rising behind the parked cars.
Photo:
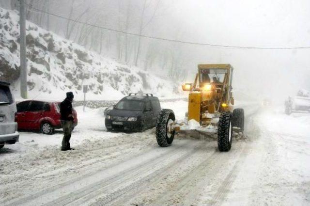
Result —
<svg viewBox="0 0 310 206"><path fill-rule="evenodd" d="M0 8L0 80L19 90L19 16ZM171 97L178 86L137 67L117 63L95 52L48 32L27 21L27 64L29 98L62 98L73 91L83 96L88 84L88 99L118 99L130 92L154 93ZM18 95L17 95L18 96Z"/></svg>

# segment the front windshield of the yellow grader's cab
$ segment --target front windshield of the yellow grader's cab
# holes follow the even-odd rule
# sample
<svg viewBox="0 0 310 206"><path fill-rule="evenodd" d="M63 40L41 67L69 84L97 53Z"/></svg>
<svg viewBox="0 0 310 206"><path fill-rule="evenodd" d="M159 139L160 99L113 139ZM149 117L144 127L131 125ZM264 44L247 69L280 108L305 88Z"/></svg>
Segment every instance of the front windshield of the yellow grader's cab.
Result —
<svg viewBox="0 0 310 206"><path fill-rule="evenodd" d="M200 73L201 83L223 83L227 69L202 69Z"/></svg>

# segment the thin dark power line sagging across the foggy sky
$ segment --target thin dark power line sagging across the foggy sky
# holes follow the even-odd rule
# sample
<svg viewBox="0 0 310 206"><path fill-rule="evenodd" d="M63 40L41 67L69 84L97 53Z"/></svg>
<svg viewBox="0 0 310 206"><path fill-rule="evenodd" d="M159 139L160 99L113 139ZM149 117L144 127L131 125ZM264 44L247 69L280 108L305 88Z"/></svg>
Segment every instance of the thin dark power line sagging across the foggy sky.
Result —
<svg viewBox="0 0 310 206"><path fill-rule="evenodd" d="M103 30L108 30L108 31L111 31L111 32L124 33L124 34L132 35L132 36L138 36L138 37L144 37L144 38L156 39L156 40L162 40L162 41L168 41L168 42L190 44L190 45L201 45L201 46L209 46L209 47L219 47L219 48L245 48L245 49L307 49L307 48L310 48L310 47L242 47L242 46L229 46L229 45L217 45L217 44L206 44L206 43L199 43L199 42L181 41L181 40L167 39L167 38L161 38L161 37L155 37L155 36L147 36L147 35L142 35L142 34L140 35L138 33L124 32L122 30L111 29L111 28L107 28L107 27L102 27L102 26L90 24L90 23L87 23L87 22L78 21L78 20L75 20L75 19L71 19L71 18L67 18L67 17L64 17L64 16L52 14L52 13L49 13L49 12L46 12L46 11L34 8L30 4L26 4L26 5L31 10L34 10L36 12L45 13L45 14L50 15L50 16L55 16L55 17L58 17L58 18L62 18L62 19L65 19L65 20L69 20L69 21L73 21L73 22L76 22L76 23L84 24L84 25L87 25L87 26L91 26L91 27L95 27L95 28L99 28L99 29L103 29Z"/></svg>

